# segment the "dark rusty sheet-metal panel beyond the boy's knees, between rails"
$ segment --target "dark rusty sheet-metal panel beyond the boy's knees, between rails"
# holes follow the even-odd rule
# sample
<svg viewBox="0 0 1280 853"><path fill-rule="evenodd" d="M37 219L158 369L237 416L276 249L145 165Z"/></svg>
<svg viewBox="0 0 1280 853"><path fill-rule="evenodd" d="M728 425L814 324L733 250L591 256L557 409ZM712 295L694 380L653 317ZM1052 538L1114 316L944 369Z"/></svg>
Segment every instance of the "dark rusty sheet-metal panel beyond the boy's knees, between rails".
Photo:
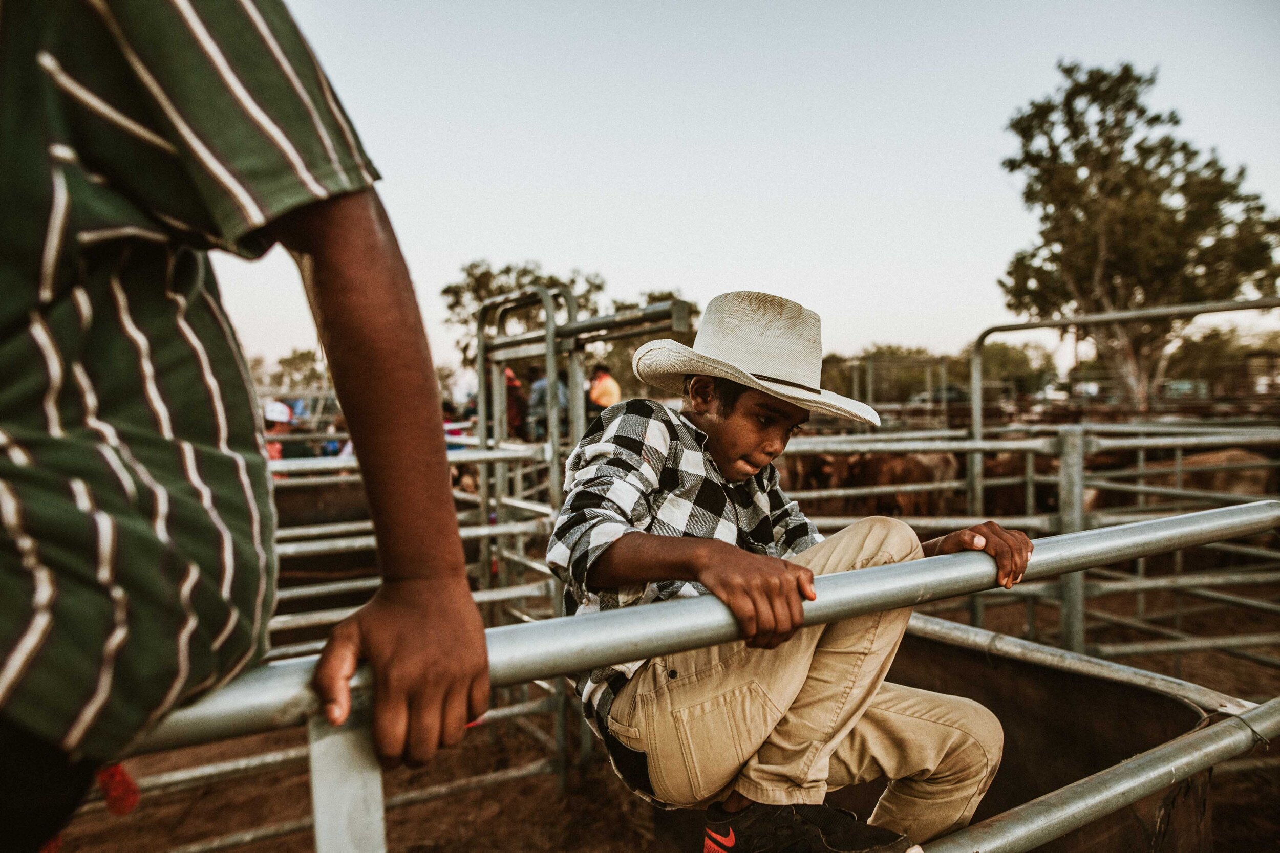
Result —
<svg viewBox="0 0 1280 853"><path fill-rule="evenodd" d="M908 636L890 680L964 696L991 708L1005 728L1005 757L974 821L1110 767L1190 732L1204 715L1181 700L1129 684L1062 673ZM878 780L833 792L827 802L870 813ZM701 813L664 812L662 836L701 849ZM1094 821L1041 848L1044 853L1210 853L1208 774Z"/></svg>

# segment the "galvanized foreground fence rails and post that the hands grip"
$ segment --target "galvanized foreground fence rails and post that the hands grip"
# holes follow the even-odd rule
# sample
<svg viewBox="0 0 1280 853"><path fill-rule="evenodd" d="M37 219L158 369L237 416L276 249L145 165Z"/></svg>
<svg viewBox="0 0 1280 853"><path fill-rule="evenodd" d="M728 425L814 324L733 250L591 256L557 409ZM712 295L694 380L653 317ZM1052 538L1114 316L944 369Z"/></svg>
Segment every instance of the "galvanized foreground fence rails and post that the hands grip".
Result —
<svg viewBox="0 0 1280 853"><path fill-rule="evenodd" d="M1039 540L1027 579L1032 583L1046 582L1120 560L1263 533L1277 524L1280 503L1266 500L1060 533ZM815 584L817 601L805 604L806 624L992 591L996 588L996 569L987 555L965 552L906 565L824 575ZM997 595L1009 592L998 591ZM600 630L596 623L607 624L607 630ZM1257 738L1280 735L1280 700L1253 705L1176 678L919 614L913 616L910 630L982 648L988 655L1138 684L1180 697L1204 710L1230 715L1220 723L1181 735L1093 776L927 844L924 849L928 853L970 849L1016 853L1033 849L1152 792L1242 755L1254 746ZM557 682L559 677L584 669L703 647L736 637L737 627L732 614L712 597L573 619L497 625L486 630L490 679L495 687L545 679ZM481 784L549 772L553 769L554 760L548 758L530 766L404 792L384 799L381 770L374 756L369 732L367 671L361 670L352 682L357 697L352 719L335 728L317 714L317 701L308 687L314 664L314 656L294 657L250 671L209 698L174 712L141 744L140 751L148 752L297 725L307 728L305 753L302 749L280 751L256 760L276 765L306 760L311 776L312 815L187 845L182 848L184 853L227 849L308 827L314 831L320 853L376 853L385 849L384 812L388 808ZM486 720L509 719L526 711L527 708L516 703L495 708ZM201 784L212 778L227 779L243 770L247 761L241 761L237 766L232 763L205 769L205 775L198 781L189 775L175 778L175 774L170 774L168 783Z"/></svg>

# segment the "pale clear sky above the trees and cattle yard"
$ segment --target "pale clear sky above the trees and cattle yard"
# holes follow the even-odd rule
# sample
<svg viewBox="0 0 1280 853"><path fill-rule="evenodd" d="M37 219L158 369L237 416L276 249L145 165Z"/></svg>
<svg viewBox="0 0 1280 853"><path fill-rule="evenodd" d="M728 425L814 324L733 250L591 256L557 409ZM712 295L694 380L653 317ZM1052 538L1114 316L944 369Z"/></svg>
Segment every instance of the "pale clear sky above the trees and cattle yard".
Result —
<svg viewBox="0 0 1280 853"><path fill-rule="evenodd" d="M768 290L842 353L1016 322L996 279L1036 223L1005 125L1059 59L1158 67L1152 105L1280 208L1275 0L289 6L383 174L444 363L439 290L479 258L599 272L618 298ZM283 252L215 265L247 352L315 345Z"/></svg>

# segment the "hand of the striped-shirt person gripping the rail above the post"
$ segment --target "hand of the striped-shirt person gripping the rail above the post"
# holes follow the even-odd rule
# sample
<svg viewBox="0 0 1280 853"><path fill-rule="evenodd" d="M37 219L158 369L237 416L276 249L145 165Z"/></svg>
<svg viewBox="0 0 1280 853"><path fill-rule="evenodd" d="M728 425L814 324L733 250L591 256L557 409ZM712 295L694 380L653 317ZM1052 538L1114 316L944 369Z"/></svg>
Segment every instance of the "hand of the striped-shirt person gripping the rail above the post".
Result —
<svg viewBox="0 0 1280 853"><path fill-rule="evenodd" d="M351 712L351 677L374 670L374 743L384 766L431 760L489 707L484 624L466 577L385 579L338 623L316 665L325 717Z"/></svg>

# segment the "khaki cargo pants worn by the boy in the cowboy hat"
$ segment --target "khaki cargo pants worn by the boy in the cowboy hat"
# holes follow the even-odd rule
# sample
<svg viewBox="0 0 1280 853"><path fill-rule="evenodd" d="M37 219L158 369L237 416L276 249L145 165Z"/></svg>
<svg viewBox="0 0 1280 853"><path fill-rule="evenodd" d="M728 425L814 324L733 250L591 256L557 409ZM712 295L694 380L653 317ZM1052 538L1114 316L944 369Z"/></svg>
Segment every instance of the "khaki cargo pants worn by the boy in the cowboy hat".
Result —
<svg viewBox="0 0 1280 853"><path fill-rule="evenodd" d="M910 527L865 518L800 554L814 574L922 556ZM969 822L1004 733L970 700L888 684L910 609L813 625L773 650L741 641L654 657L614 700L609 729L645 752L658 799L732 790L772 804L890 779L869 822L920 843Z"/></svg>

